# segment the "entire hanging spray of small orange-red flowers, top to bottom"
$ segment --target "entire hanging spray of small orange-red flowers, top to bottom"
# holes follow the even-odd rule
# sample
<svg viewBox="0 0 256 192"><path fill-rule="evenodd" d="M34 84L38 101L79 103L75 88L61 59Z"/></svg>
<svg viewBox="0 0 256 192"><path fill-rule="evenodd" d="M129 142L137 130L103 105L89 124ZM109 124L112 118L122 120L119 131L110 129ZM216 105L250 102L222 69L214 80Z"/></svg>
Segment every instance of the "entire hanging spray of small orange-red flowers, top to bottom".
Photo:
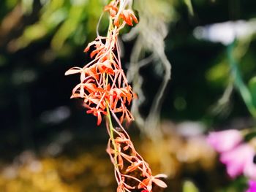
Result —
<svg viewBox="0 0 256 192"><path fill-rule="evenodd" d="M127 82L121 67L118 34L124 26L138 23L131 9L132 1L110 1L104 11L109 12L109 27L106 37L97 35L94 42L89 43L85 52L91 51L92 61L83 68L73 67L65 74L80 73L80 83L72 91L71 98L82 98L87 113L97 117L97 125L106 117L106 127L110 136L107 152L115 170L118 192L143 191L151 192L154 185L166 188L159 179L165 174L152 175L146 161L138 154L127 131L121 126L133 120L127 109L136 94ZM118 118L120 117L120 118ZM112 119L118 123L115 128Z"/></svg>

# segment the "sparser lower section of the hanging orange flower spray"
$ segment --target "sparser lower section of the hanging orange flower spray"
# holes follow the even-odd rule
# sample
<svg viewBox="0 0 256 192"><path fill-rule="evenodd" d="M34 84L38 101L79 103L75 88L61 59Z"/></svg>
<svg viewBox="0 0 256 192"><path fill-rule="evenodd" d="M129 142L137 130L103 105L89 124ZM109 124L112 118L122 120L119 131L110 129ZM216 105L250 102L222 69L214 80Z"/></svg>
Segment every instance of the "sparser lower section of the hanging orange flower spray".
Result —
<svg viewBox="0 0 256 192"><path fill-rule="evenodd" d="M117 131L120 129L121 131ZM118 182L117 192L134 189L151 192L153 185L166 188L167 185L159 180L159 177L167 176L165 174L152 175L151 169L135 150L124 128L114 130L116 137L113 140L109 139L107 152L115 165L115 176ZM128 183L132 183L132 185Z"/></svg>

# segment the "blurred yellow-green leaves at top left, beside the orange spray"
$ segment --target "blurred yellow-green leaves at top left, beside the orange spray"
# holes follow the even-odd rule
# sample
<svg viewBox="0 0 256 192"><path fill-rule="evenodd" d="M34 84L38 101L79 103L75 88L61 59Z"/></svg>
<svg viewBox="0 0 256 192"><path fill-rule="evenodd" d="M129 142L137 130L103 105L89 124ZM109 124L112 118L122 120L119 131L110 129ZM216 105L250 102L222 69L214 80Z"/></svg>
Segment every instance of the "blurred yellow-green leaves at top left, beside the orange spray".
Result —
<svg viewBox="0 0 256 192"><path fill-rule="evenodd" d="M52 0L41 2L38 20L26 26L23 34L15 39L15 50L20 50L32 42L49 36L52 37L53 50L60 50L68 40L75 45L82 45L86 37L92 36L91 34L95 37L97 20L103 9L102 1ZM38 2L23 0L21 4L23 13L30 17L36 3Z"/></svg>

